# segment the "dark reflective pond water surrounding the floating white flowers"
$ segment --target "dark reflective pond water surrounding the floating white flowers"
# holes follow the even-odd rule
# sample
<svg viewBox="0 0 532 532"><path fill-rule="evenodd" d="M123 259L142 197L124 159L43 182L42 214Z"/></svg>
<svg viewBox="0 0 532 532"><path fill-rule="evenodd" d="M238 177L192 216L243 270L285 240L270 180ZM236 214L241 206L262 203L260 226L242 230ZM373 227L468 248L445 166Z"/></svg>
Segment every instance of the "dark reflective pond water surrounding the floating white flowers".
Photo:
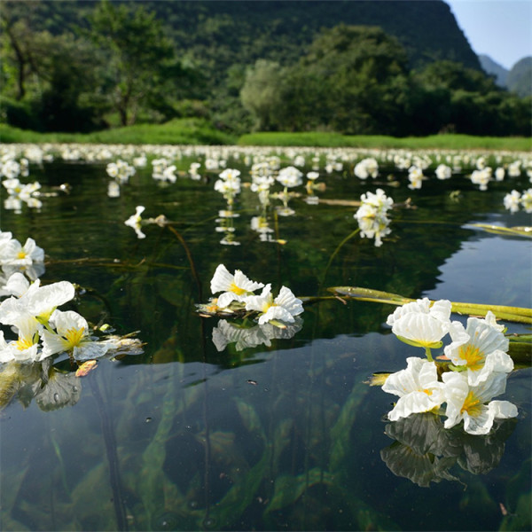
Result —
<svg viewBox="0 0 532 532"><path fill-rule="evenodd" d="M85 376L65 353L2 364L3 530L530 528L529 364L516 364L497 397L517 417L496 420L489 434L444 429L431 412L389 421L397 397L370 386L372 374L398 372L424 352L392 333L394 304L328 290L529 308L530 239L492 228L531 225L526 208L505 208L507 194L530 187L529 154L3 149L26 155L20 181L41 188L32 206L13 205L2 187L1 230L43 248L42 286L74 284L62 310L142 342L99 358ZM108 174L109 162L132 165L142 153L147 162L131 176ZM505 168L487 190L471 178L481 156ZM378 175L357 177L368 158ZM286 195L272 184L261 205L250 186L259 162L274 176L299 168L301 184ZM409 179L416 162L420 188ZM454 168L450 178L435 176L441 163ZM215 190L224 168L241 172L234 196ZM380 246L354 217L361 195L377 189L394 203ZM130 227L137 206L143 222ZM304 311L284 326L199 312L220 264L270 283L274 295L286 286ZM451 318L465 325L467 316ZM501 323L506 334L529 332Z"/></svg>

